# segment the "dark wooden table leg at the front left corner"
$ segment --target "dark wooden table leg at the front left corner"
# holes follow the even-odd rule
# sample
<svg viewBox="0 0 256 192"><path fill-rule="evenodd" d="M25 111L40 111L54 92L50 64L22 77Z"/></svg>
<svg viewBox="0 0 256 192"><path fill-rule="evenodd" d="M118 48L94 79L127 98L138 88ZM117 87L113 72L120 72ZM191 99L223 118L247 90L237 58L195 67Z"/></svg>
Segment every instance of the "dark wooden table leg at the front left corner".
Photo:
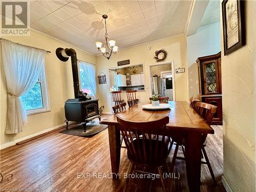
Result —
<svg viewBox="0 0 256 192"><path fill-rule="evenodd" d="M120 130L115 125L109 125L110 159L112 173L118 174L120 164Z"/></svg>

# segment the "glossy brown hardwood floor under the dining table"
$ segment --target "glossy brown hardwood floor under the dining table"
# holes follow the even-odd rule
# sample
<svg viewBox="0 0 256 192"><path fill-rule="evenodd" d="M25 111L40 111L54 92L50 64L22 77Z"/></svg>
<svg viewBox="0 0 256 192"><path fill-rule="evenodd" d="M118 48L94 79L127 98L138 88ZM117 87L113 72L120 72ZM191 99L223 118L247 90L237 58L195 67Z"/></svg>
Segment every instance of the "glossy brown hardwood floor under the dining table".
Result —
<svg viewBox="0 0 256 192"><path fill-rule="evenodd" d="M215 135L208 136L206 152L218 185L213 186L207 165L202 165L201 191L219 192L225 191L221 183L222 126L212 127ZM178 156L182 156L181 149ZM9 181L4 178L0 188L27 188L27 191L122 191L126 181L123 174L127 173L129 166L126 149L121 148L120 179L106 178L111 177L107 129L91 138L55 132L1 151L1 173L4 176L13 174L13 178ZM174 172L179 173L180 178L165 181L169 191L188 191L185 162L176 160ZM162 187L160 179L130 179L127 191L162 191Z"/></svg>

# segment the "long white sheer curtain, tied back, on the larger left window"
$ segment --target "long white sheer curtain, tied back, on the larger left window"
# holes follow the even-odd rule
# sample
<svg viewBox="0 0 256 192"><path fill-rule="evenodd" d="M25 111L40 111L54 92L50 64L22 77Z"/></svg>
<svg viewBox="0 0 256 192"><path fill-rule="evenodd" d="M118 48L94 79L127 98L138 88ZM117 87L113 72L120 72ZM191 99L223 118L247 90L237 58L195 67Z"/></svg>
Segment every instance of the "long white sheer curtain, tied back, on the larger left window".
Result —
<svg viewBox="0 0 256 192"><path fill-rule="evenodd" d="M27 114L20 96L31 90L45 64L45 51L1 39L8 90L6 134L23 131Z"/></svg>

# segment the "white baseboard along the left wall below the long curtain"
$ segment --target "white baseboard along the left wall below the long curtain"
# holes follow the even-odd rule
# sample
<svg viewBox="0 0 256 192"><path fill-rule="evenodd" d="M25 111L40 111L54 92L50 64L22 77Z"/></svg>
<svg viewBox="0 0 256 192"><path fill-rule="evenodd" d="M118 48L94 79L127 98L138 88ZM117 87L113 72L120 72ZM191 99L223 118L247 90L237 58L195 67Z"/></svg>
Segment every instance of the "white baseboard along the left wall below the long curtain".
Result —
<svg viewBox="0 0 256 192"><path fill-rule="evenodd" d="M70 123L70 124L72 124L72 123ZM58 129L59 127L64 126L64 125L66 125L66 123L62 123L62 124L59 124L59 125L50 127L49 129L42 130L42 131L40 131L40 132L37 132L37 133L31 134L31 135L28 135L28 136L25 136L25 137L16 139L16 140L14 140L14 141L10 141L10 142L8 142L8 143L1 144L1 145L0 145L0 150L3 150L4 148L10 147L10 146L14 146L14 145L16 145L17 142L24 141L24 140L26 140L26 139L30 139L30 138L32 138L32 137L35 137L35 136L38 136L38 135L47 133L47 132L49 132L49 131L56 130L56 129Z"/></svg>

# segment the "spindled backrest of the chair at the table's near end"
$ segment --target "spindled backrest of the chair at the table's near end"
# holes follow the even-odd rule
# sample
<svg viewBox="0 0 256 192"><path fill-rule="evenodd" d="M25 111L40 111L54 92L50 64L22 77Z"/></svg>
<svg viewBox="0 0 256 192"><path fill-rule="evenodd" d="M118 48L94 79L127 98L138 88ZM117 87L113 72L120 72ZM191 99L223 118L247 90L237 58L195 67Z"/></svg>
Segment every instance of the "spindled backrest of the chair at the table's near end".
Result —
<svg viewBox="0 0 256 192"><path fill-rule="evenodd" d="M160 154L166 153L164 147L159 146L159 142L162 146L166 145L165 140L168 137L165 136L165 127L169 117L148 122L133 122L117 115L117 121L127 147L127 154L136 162L151 164L162 157ZM132 135L135 136L134 139L131 139Z"/></svg>

